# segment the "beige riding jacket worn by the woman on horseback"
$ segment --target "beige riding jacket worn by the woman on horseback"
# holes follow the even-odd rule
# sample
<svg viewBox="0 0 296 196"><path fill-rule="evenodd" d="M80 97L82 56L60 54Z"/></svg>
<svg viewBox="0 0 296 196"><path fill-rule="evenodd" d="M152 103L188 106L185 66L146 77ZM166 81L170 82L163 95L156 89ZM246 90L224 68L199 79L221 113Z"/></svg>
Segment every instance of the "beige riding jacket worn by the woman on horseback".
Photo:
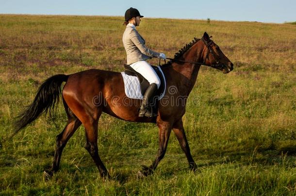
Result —
<svg viewBox="0 0 296 196"><path fill-rule="evenodd" d="M159 57L160 55L160 53L154 52L145 46L144 38L132 25L127 25L122 36L122 42L127 53L127 64L151 59L151 57Z"/></svg>

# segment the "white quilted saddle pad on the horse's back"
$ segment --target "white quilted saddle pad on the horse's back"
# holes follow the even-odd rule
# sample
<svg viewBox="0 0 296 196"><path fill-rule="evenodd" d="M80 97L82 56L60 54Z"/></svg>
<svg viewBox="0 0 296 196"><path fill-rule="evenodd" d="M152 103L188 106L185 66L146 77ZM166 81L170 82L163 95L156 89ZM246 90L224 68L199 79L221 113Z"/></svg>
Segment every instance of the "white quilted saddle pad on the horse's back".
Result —
<svg viewBox="0 0 296 196"><path fill-rule="evenodd" d="M158 67L160 72L164 77L164 73L160 67ZM137 76L126 75L124 72L121 72L123 82L124 82L124 91L127 97L132 99L143 99L141 93L140 81ZM164 97L164 92L166 88L165 77L164 77L164 91L159 95L158 100L161 100Z"/></svg>

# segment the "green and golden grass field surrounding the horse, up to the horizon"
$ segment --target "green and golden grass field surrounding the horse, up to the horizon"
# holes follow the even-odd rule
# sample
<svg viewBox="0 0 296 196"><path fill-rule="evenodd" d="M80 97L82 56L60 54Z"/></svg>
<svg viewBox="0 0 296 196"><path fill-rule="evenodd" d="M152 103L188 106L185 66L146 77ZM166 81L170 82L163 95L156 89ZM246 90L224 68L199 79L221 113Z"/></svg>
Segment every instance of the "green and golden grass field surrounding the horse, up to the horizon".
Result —
<svg viewBox="0 0 296 196"><path fill-rule="evenodd" d="M184 127L199 170L192 172L171 135L155 173L137 180L158 148L154 124L102 115L104 181L83 148L81 126L49 181L55 136L66 125L59 104L12 141L13 120L42 81L91 68L122 71L120 17L0 15L0 195L296 195L296 25L143 18L148 46L173 57L204 31L233 62L227 75L202 67ZM157 64L157 60L150 60Z"/></svg>

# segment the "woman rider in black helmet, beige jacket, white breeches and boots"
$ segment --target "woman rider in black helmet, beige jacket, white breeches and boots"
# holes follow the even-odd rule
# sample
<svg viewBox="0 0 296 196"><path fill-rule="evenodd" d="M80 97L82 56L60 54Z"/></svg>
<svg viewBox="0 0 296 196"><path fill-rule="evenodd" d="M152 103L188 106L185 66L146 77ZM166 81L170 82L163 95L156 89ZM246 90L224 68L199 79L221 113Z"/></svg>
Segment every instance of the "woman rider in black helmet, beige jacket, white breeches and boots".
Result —
<svg viewBox="0 0 296 196"><path fill-rule="evenodd" d="M136 26L140 25L141 17L139 11L135 8L130 8L125 12L125 22L126 29L122 36L122 42L127 53L127 64L129 64L132 69L140 73L149 82L149 87L146 90L142 105L139 110L139 117L153 117L157 116L155 111L149 106L153 96L160 86L160 79L155 73L151 65L146 61L151 59L151 57L158 57L165 59L164 53L155 52L145 46L144 38L136 30Z"/></svg>

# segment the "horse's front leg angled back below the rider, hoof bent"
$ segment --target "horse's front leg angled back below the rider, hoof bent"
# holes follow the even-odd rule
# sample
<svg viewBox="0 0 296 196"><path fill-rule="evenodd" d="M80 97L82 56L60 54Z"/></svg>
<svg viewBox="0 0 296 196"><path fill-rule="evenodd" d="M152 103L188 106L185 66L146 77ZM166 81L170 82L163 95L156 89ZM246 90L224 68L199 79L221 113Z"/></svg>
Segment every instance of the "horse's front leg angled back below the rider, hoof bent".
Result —
<svg viewBox="0 0 296 196"><path fill-rule="evenodd" d="M153 171L156 169L158 163L164 158L164 154L167 148L167 142L172 130L172 123L167 121L161 121L160 118L158 118L157 126L159 129L159 147L156 159L154 160L151 166L143 166L142 170L138 171L138 178L142 178L144 176L152 174Z"/></svg>

